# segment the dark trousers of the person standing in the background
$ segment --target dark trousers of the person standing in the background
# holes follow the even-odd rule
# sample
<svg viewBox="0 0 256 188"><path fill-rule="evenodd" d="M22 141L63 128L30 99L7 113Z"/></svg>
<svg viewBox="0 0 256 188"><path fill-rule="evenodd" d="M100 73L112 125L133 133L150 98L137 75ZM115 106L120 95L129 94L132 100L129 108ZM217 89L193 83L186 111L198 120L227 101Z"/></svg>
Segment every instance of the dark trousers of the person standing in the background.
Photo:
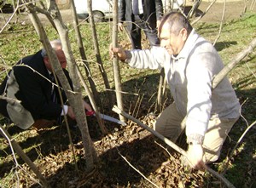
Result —
<svg viewBox="0 0 256 188"><path fill-rule="evenodd" d="M133 49L142 48L142 30L144 31L150 46L159 46L160 40L157 36L157 29L150 28L148 23L142 19L142 16L135 17L135 22L132 23L131 29L131 46Z"/></svg>

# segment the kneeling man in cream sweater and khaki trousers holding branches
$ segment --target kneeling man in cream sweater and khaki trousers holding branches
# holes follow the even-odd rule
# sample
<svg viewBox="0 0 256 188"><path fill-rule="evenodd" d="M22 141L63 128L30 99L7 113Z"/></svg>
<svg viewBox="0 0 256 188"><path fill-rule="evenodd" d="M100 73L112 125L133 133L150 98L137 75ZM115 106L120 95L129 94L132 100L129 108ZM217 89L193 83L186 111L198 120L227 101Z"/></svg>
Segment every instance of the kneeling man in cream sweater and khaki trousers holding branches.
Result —
<svg viewBox="0 0 256 188"><path fill-rule="evenodd" d="M163 16L159 26L160 47L144 50L112 48L131 67L165 68L174 102L166 107L154 129L172 141L185 130L192 168L215 162L230 129L240 117L240 104L227 77L212 88L212 79L224 64L212 43L189 24L183 14Z"/></svg>

